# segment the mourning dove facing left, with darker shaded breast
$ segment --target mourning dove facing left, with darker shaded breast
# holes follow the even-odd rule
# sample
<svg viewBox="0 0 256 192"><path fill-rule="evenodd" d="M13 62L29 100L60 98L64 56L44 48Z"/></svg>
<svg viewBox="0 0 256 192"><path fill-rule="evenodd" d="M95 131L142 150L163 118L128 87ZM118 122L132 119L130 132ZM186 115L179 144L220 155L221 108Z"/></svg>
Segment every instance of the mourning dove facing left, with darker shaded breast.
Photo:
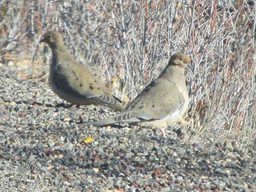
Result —
<svg viewBox="0 0 256 192"><path fill-rule="evenodd" d="M76 61L64 45L62 35L48 31L39 42L52 49L50 84L61 99L76 105L103 105L123 111L120 99L111 94L85 66Z"/></svg>

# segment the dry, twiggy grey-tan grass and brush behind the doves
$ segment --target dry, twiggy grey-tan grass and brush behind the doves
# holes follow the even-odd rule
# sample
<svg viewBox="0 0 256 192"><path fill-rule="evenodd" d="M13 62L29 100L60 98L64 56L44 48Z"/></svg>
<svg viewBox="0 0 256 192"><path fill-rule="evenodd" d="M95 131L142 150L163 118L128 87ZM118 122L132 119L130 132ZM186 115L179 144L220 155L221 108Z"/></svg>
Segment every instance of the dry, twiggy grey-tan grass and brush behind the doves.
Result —
<svg viewBox="0 0 256 192"><path fill-rule="evenodd" d="M27 73L47 86L50 50L38 41L56 29L114 94L134 99L184 51L194 68L186 70L190 128L249 146L256 137L256 9L230 2L1 0L0 62L29 60Z"/></svg>

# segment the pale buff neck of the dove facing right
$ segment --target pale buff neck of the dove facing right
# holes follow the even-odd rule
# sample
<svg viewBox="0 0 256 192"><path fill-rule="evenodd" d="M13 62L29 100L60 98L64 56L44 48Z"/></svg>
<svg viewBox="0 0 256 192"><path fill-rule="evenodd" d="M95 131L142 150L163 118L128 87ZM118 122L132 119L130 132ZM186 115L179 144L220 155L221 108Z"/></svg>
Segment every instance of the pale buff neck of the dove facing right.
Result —
<svg viewBox="0 0 256 192"><path fill-rule="evenodd" d="M185 83L185 77L183 73L183 68L179 65L169 65L165 68L162 75L168 81L175 83Z"/></svg>

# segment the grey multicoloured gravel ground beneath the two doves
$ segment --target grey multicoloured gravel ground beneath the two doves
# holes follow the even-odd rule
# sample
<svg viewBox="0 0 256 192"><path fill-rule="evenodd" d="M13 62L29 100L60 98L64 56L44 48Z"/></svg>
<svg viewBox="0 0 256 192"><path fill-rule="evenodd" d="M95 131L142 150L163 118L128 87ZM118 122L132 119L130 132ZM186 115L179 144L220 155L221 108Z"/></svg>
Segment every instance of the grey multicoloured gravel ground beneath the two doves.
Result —
<svg viewBox="0 0 256 192"><path fill-rule="evenodd" d="M44 83L0 66L0 192L256 191L255 145L245 157L212 133L192 144L192 131L88 128L80 122L113 112L56 109L60 102Z"/></svg>

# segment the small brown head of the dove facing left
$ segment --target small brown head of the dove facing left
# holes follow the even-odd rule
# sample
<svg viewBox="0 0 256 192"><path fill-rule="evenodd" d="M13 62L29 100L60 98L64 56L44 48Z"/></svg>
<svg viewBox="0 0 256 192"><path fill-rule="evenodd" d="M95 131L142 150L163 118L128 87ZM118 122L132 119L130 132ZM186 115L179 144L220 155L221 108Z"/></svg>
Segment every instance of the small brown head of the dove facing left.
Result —
<svg viewBox="0 0 256 192"><path fill-rule="evenodd" d="M52 49L64 44L62 35L57 31L47 31L44 38L39 41L39 43L41 42L47 43Z"/></svg>

